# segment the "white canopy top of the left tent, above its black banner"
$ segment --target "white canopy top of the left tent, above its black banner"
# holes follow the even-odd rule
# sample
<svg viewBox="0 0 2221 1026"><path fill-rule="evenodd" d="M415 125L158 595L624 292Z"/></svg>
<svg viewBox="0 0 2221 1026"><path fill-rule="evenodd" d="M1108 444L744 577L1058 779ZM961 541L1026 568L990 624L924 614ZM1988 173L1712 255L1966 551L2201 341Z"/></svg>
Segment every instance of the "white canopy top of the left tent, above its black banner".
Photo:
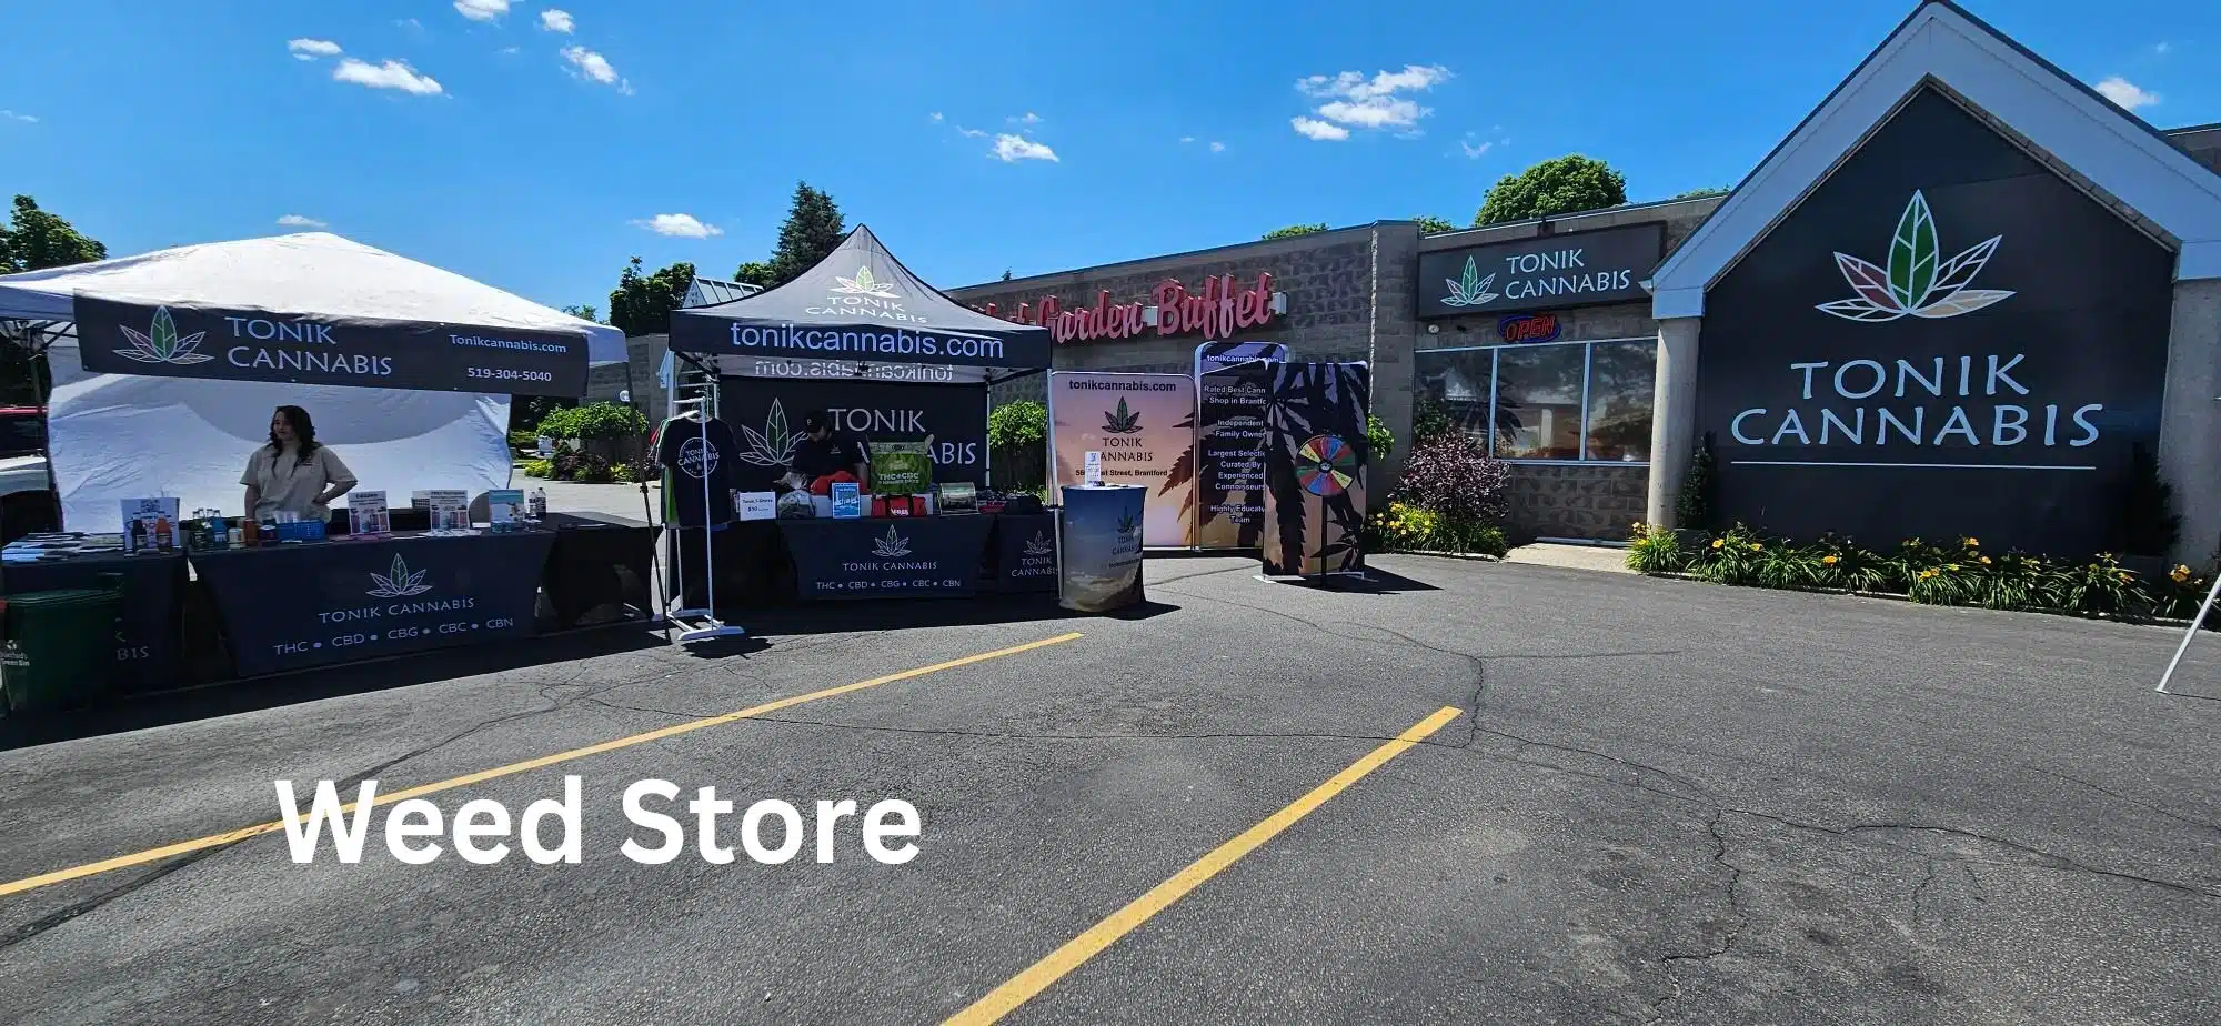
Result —
<svg viewBox="0 0 2221 1026"><path fill-rule="evenodd" d="M329 231L202 242L0 275L0 320L71 320L71 298L80 291L324 318L575 331L589 338L589 362L624 362L624 331Z"/></svg>

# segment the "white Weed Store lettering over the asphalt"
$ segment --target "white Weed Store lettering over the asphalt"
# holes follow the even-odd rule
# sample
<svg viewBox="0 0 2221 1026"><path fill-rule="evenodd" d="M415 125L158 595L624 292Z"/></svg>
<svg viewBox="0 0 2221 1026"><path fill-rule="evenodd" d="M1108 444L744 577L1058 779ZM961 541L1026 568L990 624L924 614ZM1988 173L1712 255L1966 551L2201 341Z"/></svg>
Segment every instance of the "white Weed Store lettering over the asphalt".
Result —
<svg viewBox="0 0 2221 1026"><path fill-rule="evenodd" d="M438 862L449 848L478 866L498 864L513 851L542 866L560 862L575 866L584 859L584 788L575 775L562 779L560 799L542 797L524 806L522 815L511 815L509 806L491 797L464 802L453 815L422 797L393 802L384 813L375 813L375 779L360 784L353 804L340 799L338 784L320 779L309 811L302 813L293 782L278 779L275 786L287 848L295 864L315 862L326 837L331 857L360 864L373 819L384 833L386 853L409 866ZM873 862L900 866L917 857L911 837L922 833L917 806L900 797L873 802L862 813L855 799L815 802L808 817L788 802L766 797L742 808L735 824L733 799L717 797L715 786L697 788L691 799L680 802L677 784L640 779L624 788L620 806L631 831L617 851L644 866L675 862L686 851L702 862L724 866L740 857L733 842L762 866L793 862L806 842L815 842L815 859L822 864L853 853L862 842L864 855Z"/></svg>

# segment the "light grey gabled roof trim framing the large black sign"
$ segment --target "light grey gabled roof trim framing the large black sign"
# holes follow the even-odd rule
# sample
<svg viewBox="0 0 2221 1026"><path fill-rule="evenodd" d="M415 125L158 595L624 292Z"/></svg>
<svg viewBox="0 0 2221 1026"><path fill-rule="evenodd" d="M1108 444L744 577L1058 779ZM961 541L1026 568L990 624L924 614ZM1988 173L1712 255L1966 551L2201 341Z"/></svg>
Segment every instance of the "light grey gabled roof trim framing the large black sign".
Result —
<svg viewBox="0 0 2221 1026"><path fill-rule="evenodd" d="M1959 4L1930 0L1659 264L1652 315L1704 315L1704 293L1930 82L2165 233L2177 280L2221 278L2221 175Z"/></svg>

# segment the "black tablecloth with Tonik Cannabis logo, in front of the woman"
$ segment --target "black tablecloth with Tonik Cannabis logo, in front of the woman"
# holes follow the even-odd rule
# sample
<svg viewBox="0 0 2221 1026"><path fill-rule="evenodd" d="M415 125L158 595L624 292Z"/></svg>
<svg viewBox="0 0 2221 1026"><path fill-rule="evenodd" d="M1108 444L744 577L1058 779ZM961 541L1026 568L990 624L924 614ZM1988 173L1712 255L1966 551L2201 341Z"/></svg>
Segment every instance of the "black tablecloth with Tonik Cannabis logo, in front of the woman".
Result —
<svg viewBox="0 0 2221 1026"><path fill-rule="evenodd" d="M553 531L193 553L242 677L533 633Z"/></svg>

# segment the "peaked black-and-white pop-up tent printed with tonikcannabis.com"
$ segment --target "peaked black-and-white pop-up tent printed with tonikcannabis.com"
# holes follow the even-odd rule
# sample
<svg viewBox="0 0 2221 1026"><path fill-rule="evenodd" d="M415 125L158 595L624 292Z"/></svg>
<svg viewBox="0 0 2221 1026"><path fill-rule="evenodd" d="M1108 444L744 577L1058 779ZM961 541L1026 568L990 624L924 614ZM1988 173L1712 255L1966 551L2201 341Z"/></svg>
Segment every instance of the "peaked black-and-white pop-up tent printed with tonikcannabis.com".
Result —
<svg viewBox="0 0 2221 1026"><path fill-rule="evenodd" d="M808 411L855 435L931 442L939 480L986 484L986 389L1046 371L1048 346L1048 329L942 295L866 227L793 282L671 313L671 351L722 384L753 489L784 473Z"/></svg>

